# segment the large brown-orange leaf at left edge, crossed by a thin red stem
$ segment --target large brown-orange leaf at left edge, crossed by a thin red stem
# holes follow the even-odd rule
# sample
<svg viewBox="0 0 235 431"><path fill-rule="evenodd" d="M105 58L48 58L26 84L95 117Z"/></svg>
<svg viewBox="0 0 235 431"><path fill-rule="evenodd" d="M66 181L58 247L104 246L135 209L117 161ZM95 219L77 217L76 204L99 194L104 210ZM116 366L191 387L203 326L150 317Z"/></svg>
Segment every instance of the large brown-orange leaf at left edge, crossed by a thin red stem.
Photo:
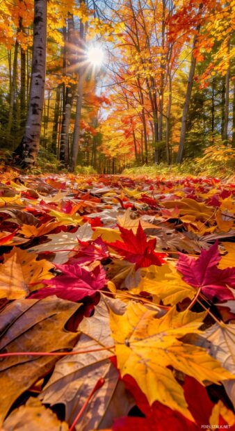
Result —
<svg viewBox="0 0 235 431"><path fill-rule="evenodd" d="M0 314L0 352L56 352L71 349L79 334L65 331L65 323L79 304L56 297L17 300ZM58 357L12 356L0 362L0 423L13 402L47 375ZM13 384L14 382L14 384Z"/></svg>

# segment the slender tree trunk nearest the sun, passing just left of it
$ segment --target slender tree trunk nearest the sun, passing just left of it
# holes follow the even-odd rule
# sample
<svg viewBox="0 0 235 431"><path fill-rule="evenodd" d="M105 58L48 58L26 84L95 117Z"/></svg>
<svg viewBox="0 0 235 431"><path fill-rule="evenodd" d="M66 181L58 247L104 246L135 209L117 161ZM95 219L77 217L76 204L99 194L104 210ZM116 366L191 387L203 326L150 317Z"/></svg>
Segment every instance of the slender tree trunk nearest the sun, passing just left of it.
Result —
<svg viewBox="0 0 235 431"><path fill-rule="evenodd" d="M83 3L83 0L80 0L80 3ZM79 67L79 73L78 73L78 86L77 86L77 92L76 92L76 117L75 117L75 124L74 124L74 134L72 138L72 151L71 151L71 160L70 160L70 170L71 172L74 172L74 169L76 167L76 159L79 154L79 138L80 138L80 121L81 121L81 107L83 102L83 86L84 81L86 78L86 65L85 67L82 65L84 58L83 58L83 41L85 38L85 31L84 31L84 24L82 21L80 21L80 33L79 33L79 47L80 47L80 67Z"/></svg>

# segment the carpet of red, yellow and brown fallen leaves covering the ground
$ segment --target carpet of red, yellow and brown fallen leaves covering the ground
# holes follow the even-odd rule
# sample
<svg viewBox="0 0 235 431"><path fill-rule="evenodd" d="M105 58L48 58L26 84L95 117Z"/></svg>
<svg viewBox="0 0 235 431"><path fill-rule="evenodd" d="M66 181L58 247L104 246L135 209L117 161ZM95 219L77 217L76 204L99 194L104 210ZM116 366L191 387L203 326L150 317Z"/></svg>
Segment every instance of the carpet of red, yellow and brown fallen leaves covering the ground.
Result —
<svg viewBox="0 0 235 431"><path fill-rule="evenodd" d="M0 181L1 429L232 430L232 184Z"/></svg>

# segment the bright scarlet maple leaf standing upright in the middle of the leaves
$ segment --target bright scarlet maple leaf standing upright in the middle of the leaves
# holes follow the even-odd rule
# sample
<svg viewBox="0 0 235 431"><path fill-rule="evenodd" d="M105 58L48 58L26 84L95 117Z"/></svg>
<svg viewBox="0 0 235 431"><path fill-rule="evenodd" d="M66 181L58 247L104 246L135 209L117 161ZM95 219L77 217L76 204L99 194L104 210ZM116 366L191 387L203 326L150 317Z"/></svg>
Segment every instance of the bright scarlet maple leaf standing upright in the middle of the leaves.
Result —
<svg viewBox="0 0 235 431"><path fill-rule="evenodd" d="M110 247L123 256L127 261L136 263L136 270L138 268L146 268L150 265L161 266L164 263L164 253L157 253L154 251L156 247L156 238L147 241L147 236L143 231L142 226L138 225L136 235L130 229L125 229L119 226L122 241L115 241L115 243L108 243Z"/></svg>

